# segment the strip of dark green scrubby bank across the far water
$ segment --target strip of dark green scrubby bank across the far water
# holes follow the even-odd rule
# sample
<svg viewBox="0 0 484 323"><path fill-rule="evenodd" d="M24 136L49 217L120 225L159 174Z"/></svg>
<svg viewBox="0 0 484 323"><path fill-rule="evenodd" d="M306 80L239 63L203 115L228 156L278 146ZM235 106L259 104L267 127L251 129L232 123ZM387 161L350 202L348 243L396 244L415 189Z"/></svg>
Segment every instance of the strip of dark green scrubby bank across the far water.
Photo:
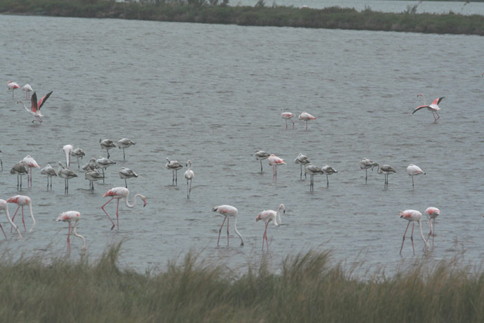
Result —
<svg viewBox="0 0 484 323"><path fill-rule="evenodd" d="M223 0L222 0L223 1ZM212 3L212 4L211 4ZM176 21L239 26L277 26L380 30L408 33L484 35L484 16L416 13L418 3L404 12L358 12L354 8L323 9L265 6L227 6L218 0L3 0L0 13L53 17L115 18Z"/></svg>

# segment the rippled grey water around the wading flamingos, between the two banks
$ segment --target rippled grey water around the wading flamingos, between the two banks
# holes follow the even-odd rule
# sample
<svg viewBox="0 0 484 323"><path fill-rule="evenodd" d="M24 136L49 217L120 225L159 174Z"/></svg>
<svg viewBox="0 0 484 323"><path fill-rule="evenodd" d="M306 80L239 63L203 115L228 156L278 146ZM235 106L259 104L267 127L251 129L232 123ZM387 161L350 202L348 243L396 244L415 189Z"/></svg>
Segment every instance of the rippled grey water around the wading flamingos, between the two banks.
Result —
<svg viewBox="0 0 484 323"><path fill-rule="evenodd" d="M15 194L31 197L37 219L24 241L15 234L1 241L16 255L63 255L67 223L54 220L60 212L78 210L78 232L88 252L97 257L110 243L126 239L122 266L144 271L163 268L169 259L192 248L208 259L244 268L267 254L274 264L286 255L333 250L335 261L363 261L364 268L387 268L415 259L409 240L399 255L407 221L399 210L423 212L440 208L434 252L430 259L452 257L466 250L472 264L483 259L481 37L422 35L353 30L241 27L176 24L117 19L0 16L4 33L0 53L3 80L29 83L39 95L54 91L42 108L44 122L32 117L6 86L0 99L2 134L1 199ZM35 31L34 31L35 30ZM28 32L27 32L28 31ZM445 96L440 120L429 111L412 115L422 104ZM280 108L317 119L295 118L285 128ZM33 171L32 188L16 189L8 170L27 154L41 167L64 160L62 147L80 146L86 157L106 156L100 138L131 138L136 146L111 150L117 164L106 170L106 183L88 190L84 174L70 181L64 194L61 178L46 190L46 178ZM264 149L286 160L272 169L254 158ZM338 170L329 178L299 180L294 158L302 152L316 165ZM192 199L183 178L171 185L165 158L193 162ZM358 161L371 158L392 165L397 174L384 178L369 171L368 184ZM84 158L82 163L86 163ZM427 175L415 178L409 163ZM120 205L120 230L100 209L111 187L124 186L120 166L139 174L129 181L132 194L147 196L133 209ZM261 252L262 210L284 203L282 225L270 224L270 252ZM245 246L230 228L217 248L222 218L216 205L239 209L237 226ZM115 203L106 210L115 217ZM10 205L10 214L15 205ZM5 217L0 218L8 228ZM18 218L15 222L21 223ZM26 219L27 229L31 220ZM232 226L233 221L230 222ZM424 221L423 230L428 232ZM423 255L415 231L416 257ZM79 239L71 239L74 259Z"/></svg>

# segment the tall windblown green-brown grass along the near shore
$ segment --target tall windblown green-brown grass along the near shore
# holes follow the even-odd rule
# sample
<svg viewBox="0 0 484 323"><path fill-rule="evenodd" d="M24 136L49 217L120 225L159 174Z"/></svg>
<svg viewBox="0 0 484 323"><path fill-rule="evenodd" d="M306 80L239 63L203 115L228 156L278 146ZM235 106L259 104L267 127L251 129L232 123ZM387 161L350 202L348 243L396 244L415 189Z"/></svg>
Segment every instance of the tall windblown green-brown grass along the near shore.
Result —
<svg viewBox="0 0 484 323"><path fill-rule="evenodd" d="M483 322L484 275L456 261L353 277L328 252L288 257L279 274L232 273L188 253L165 272L117 266L121 245L88 259L0 265L2 322ZM5 259L7 258L7 259Z"/></svg>

